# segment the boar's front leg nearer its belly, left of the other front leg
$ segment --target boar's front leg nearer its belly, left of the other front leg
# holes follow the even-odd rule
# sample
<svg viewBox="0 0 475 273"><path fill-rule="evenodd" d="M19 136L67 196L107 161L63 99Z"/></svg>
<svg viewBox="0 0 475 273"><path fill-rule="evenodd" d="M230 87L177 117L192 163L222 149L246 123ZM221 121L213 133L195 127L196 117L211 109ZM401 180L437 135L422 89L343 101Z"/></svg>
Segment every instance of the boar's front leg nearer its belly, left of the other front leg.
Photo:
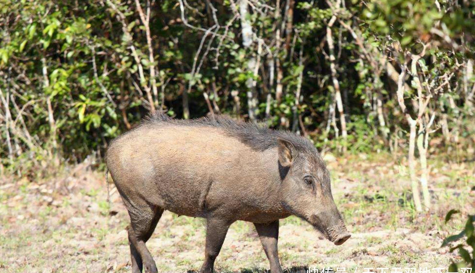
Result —
<svg viewBox="0 0 475 273"><path fill-rule="evenodd" d="M206 224L205 262L199 273L213 273L214 261L221 250L224 238L232 221L209 216Z"/></svg>

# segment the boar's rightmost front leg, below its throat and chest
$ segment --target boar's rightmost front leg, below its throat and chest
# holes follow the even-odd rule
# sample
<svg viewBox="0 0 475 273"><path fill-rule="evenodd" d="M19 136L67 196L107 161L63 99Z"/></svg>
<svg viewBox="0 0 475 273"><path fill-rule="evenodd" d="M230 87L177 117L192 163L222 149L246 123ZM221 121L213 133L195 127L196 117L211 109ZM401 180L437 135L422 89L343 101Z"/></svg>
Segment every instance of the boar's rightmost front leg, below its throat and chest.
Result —
<svg viewBox="0 0 475 273"><path fill-rule="evenodd" d="M279 237L279 220L266 224L254 223L257 234L261 239L264 252L270 263L270 272L282 273L282 268L279 263L279 256L277 254L277 240Z"/></svg>

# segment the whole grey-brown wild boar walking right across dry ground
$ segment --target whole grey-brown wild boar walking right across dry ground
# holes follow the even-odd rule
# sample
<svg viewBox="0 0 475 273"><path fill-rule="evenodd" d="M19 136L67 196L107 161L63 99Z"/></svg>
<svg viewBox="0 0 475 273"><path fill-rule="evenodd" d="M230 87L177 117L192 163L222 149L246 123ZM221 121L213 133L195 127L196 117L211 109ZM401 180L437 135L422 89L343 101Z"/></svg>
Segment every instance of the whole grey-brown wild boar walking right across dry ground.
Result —
<svg viewBox="0 0 475 273"><path fill-rule="evenodd" d="M212 273L230 224L252 222L272 273L279 219L296 215L334 244L350 234L333 201L330 175L314 145L286 131L211 116L171 119L161 112L112 141L107 168L130 215L132 272L156 273L145 243L164 210L204 217Z"/></svg>

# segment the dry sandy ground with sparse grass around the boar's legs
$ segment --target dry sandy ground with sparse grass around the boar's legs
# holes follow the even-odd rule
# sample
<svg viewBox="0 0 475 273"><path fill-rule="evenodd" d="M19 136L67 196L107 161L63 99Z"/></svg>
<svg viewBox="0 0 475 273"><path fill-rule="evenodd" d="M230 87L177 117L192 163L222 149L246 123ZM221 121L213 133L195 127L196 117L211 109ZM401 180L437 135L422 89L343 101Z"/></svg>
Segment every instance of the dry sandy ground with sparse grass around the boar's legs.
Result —
<svg viewBox="0 0 475 273"><path fill-rule="evenodd" d="M308 268L444 268L456 254L439 248L442 239L460 230L463 218L449 224L450 208L474 213L473 162L431 162L434 207L415 213L405 162L389 155L327 156L333 195L352 238L342 246L322 239L295 217L281 220L280 258L289 272ZM129 272L124 228L128 215L112 188L106 202L104 176L76 166L46 181L3 178L0 181L0 272ZM204 252L204 222L164 213L147 243L159 272L194 272ZM252 224L237 222L229 230L216 261L217 272L266 272L268 263ZM433 271L436 272L436 271Z"/></svg>

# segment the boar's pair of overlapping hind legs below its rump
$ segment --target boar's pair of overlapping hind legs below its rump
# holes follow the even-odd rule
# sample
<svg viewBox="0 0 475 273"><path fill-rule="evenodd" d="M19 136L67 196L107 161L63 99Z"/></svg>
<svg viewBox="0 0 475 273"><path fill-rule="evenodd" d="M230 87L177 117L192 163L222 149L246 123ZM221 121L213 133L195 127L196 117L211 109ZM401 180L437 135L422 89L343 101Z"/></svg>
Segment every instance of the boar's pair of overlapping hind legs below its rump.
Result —
<svg viewBox="0 0 475 273"><path fill-rule="evenodd" d="M143 267L146 273L157 273L155 261L145 242L152 236L162 213L163 209L153 208L148 204L129 210L131 225L128 233L133 273L141 273Z"/></svg>

